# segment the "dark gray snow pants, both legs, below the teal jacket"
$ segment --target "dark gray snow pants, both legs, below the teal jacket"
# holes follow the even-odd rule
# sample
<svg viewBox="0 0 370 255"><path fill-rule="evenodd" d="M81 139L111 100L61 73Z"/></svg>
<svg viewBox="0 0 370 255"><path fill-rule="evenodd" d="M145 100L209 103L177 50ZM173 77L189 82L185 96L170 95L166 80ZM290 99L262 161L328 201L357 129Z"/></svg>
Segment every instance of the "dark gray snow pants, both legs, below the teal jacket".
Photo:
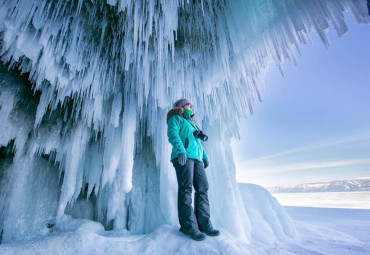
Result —
<svg viewBox="0 0 370 255"><path fill-rule="evenodd" d="M177 210L180 222L180 231L194 232L212 228L208 202L208 180L204 171L204 164L195 159L187 159L184 166L178 159L172 160L176 170L178 195ZM195 189L194 210L191 206L193 185Z"/></svg>

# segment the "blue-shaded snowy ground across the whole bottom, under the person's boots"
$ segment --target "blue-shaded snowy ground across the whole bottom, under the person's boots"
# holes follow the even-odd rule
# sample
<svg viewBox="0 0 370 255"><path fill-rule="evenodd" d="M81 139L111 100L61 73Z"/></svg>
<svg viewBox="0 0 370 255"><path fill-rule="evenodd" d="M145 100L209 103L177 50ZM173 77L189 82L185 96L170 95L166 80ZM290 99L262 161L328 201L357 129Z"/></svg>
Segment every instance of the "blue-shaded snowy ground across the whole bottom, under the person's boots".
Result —
<svg viewBox="0 0 370 255"><path fill-rule="evenodd" d="M0 254L370 254L370 210L284 207L292 218L294 238L274 241L235 239L225 229L218 237L196 242L163 225L150 234L105 231L94 221L64 216L58 228L31 241L0 245ZM261 229L261 232L264 230Z"/></svg>

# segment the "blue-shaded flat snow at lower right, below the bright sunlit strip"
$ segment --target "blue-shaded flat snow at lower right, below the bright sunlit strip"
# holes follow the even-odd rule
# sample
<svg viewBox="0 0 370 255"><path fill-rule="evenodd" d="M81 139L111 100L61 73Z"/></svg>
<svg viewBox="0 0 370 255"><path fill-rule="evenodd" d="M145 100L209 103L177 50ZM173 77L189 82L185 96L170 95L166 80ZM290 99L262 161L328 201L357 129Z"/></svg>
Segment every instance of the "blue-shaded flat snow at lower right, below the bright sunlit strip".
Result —
<svg viewBox="0 0 370 255"><path fill-rule="evenodd" d="M297 227L296 254L370 254L370 210L285 207Z"/></svg>

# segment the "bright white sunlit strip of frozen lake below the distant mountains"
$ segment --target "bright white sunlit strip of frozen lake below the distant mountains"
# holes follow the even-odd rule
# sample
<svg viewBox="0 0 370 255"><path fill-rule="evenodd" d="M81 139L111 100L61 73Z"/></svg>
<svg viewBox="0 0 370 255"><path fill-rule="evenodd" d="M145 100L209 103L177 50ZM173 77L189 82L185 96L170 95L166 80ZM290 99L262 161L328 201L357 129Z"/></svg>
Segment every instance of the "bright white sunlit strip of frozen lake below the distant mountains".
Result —
<svg viewBox="0 0 370 255"><path fill-rule="evenodd" d="M283 206L370 209L370 191L272 194Z"/></svg>

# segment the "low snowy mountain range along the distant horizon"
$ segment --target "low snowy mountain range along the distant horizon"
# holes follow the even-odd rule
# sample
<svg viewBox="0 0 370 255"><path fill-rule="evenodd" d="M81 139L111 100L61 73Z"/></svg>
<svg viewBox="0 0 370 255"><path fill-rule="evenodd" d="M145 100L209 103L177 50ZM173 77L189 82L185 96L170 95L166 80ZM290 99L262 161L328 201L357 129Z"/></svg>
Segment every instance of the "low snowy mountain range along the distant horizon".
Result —
<svg viewBox="0 0 370 255"><path fill-rule="evenodd" d="M294 187L270 187L271 193L370 191L370 177L330 182L303 183Z"/></svg>

